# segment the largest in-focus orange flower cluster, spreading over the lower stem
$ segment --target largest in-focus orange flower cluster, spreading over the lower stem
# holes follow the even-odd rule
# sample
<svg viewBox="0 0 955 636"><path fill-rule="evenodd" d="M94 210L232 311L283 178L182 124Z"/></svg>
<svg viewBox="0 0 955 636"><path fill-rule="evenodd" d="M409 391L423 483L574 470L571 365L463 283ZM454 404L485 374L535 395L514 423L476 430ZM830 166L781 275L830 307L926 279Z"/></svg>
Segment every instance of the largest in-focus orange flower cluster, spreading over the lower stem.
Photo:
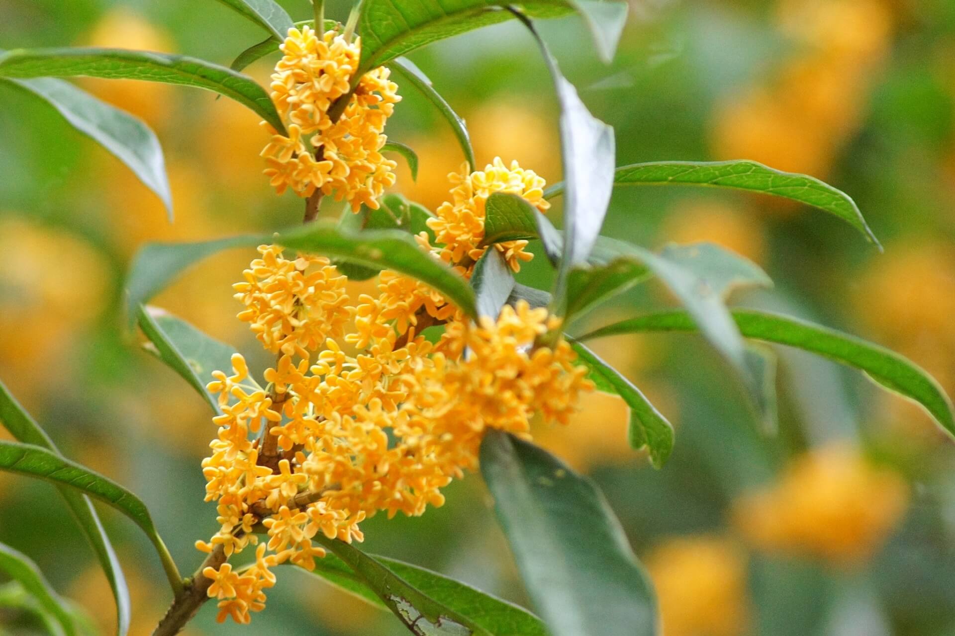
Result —
<svg viewBox="0 0 955 636"><path fill-rule="evenodd" d="M433 344L392 299L403 277L383 272L380 297L353 305L328 259L259 251L235 296L239 318L278 359L265 389L238 354L232 374L217 371L208 385L223 415L202 471L221 529L197 543L228 556L257 543L260 521L267 529L255 564L203 571L219 619L239 623L263 608L270 567L314 568L325 554L318 533L361 541L358 524L378 511L441 505L440 489L477 466L487 427L526 436L535 414L565 422L592 388L567 342L535 346L558 326L545 309L520 302L497 320L452 319Z"/></svg>

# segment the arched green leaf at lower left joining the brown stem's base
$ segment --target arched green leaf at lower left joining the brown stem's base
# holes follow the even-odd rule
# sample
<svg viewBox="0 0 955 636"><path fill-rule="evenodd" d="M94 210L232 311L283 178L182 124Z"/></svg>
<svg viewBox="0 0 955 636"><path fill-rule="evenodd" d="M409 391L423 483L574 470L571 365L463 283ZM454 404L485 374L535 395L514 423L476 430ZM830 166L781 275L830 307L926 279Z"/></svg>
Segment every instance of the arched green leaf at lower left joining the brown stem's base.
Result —
<svg viewBox="0 0 955 636"><path fill-rule="evenodd" d="M182 578L176 570L176 564L162 543L146 504L129 490L46 448L18 441L0 441L0 470L35 477L55 485L69 486L116 508L133 520L149 537L159 554L170 584L179 593Z"/></svg>

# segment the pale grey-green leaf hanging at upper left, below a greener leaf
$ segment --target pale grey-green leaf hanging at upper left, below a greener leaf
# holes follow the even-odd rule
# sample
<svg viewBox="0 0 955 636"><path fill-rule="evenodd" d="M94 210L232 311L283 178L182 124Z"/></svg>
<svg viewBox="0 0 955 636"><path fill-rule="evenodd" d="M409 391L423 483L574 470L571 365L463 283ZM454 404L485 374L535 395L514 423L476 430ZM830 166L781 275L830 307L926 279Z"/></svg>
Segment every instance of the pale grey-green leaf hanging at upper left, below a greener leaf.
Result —
<svg viewBox="0 0 955 636"><path fill-rule="evenodd" d="M8 79L12 86L50 104L80 133L114 154L156 193L173 219L172 194L156 133L136 117L59 79Z"/></svg>

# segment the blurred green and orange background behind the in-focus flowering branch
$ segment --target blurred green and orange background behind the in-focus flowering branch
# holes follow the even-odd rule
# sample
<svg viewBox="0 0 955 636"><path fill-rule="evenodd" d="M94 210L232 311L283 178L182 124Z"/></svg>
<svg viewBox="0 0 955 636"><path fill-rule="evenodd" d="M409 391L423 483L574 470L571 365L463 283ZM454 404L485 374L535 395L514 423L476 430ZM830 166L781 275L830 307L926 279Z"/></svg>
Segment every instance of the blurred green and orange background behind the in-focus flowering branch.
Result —
<svg viewBox="0 0 955 636"><path fill-rule="evenodd" d="M344 20L348 4L329 2ZM281 4L295 19L310 15L306 0ZM955 394L955 2L631 0L611 66L579 20L541 31L590 110L615 127L618 164L751 158L813 174L855 197L885 252L823 213L705 189L617 191L605 234L732 249L775 280L741 304L874 339ZM227 65L263 37L216 2L0 2L4 49L114 46ZM411 57L467 119L480 162L517 158L560 179L555 100L520 26ZM267 84L272 64L248 72ZM188 385L123 337L122 277L145 241L277 230L297 223L303 204L273 195L260 175L266 134L243 107L179 87L81 84L157 131L176 221L112 155L0 85L0 379L69 456L149 504L191 572L202 561L193 542L217 529L200 471L215 427ZM421 174L414 183L402 167L398 190L434 209L462 157L430 105L402 93L388 133L417 151ZM153 304L254 355L230 288L251 257L206 260ZM520 281L544 286L550 276L538 257ZM651 283L575 330L672 302ZM664 636L955 635L955 446L922 411L780 350L780 431L764 437L701 339L595 348L675 422L671 461L656 471L630 450L626 407L602 395L536 439L604 489L657 586ZM365 523L365 547L526 605L480 478L447 494L421 518ZM132 633L148 634L169 602L159 563L131 523L111 510L104 518L130 580ZM0 473L0 541L113 629L109 587L52 487ZM214 616L204 608L186 633L404 633L390 614L292 569L251 626L217 626Z"/></svg>

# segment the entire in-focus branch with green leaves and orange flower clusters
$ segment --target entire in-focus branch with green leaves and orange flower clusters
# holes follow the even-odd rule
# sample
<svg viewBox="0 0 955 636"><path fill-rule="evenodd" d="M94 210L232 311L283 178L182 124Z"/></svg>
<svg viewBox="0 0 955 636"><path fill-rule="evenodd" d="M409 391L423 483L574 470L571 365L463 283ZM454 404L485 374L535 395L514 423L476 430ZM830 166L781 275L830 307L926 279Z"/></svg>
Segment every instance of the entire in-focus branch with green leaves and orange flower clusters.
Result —
<svg viewBox="0 0 955 636"><path fill-rule="evenodd" d="M91 498L128 516L155 545L173 599L157 636L175 634L216 600L219 620L248 623L265 608L274 571L293 564L343 585L416 634L633 636L657 633L651 586L596 485L533 444L536 418L566 423L581 393L615 394L630 408L629 440L654 465L667 461L672 426L584 341L623 333L698 331L745 389L753 415L775 425L772 353L749 340L797 347L859 368L920 403L950 435L952 407L935 380L907 359L859 339L785 316L730 309L728 293L768 286L753 263L709 244L651 252L600 236L617 186L699 185L782 196L838 216L876 242L852 199L802 174L752 161L614 165L613 129L590 114L535 31L532 19L577 11L597 49L612 57L626 5L540 0L498 5L445 0L422 5L365 0L348 24L293 23L271 0L222 0L269 32L232 68L144 51L35 49L0 53L0 81L32 92L116 154L172 210L159 142L138 119L52 77L89 75L195 86L230 97L263 118L271 139L265 175L281 195L305 199L305 223L272 236L150 244L129 277L128 311L150 350L208 402L218 435L202 462L206 501L220 530L197 547L207 557L182 578L146 506L119 484L63 458L0 386L0 468L53 482L93 545L117 603L117 633L130 623L129 595ZM496 159L476 170L463 120L401 55L435 40L517 18L536 38L562 114L565 181L546 188L532 166ZM319 28L321 27L321 28ZM268 89L241 73L282 52ZM393 75L392 75L392 72ZM396 84L393 76L400 81ZM430 211L386 195L401 154L388 118L398 90L422 92L456 134L465 163L450 175L447 202ZM557 229L545 213L562 196ZM329 197L326 200L326 197ZM315 220L344 201L337 222ZM535 256L556 271L552 290L517 284ZM878 244L878 243L877 243ZM238 318L275 363L262 374L244 356L145 303L199 259L257 247L234 286ZM237 273L237 278L238 278ZM376 278L376 296L350 297L346 282ZM657 278L684 310L627 318L588 334L564 334L599 303ZM426 337L427 330L434 332ZM217 369L211 375L197 369ZM361 523L384 511L420 515L444 503L441 489L479 468L540 618L411 564L354 544ZM252 563L230 558L251 549ZM32 596L62 633L79 614L37 568L0 545L0 569ZM347 576L342 576L347 574Z"/></svg>

